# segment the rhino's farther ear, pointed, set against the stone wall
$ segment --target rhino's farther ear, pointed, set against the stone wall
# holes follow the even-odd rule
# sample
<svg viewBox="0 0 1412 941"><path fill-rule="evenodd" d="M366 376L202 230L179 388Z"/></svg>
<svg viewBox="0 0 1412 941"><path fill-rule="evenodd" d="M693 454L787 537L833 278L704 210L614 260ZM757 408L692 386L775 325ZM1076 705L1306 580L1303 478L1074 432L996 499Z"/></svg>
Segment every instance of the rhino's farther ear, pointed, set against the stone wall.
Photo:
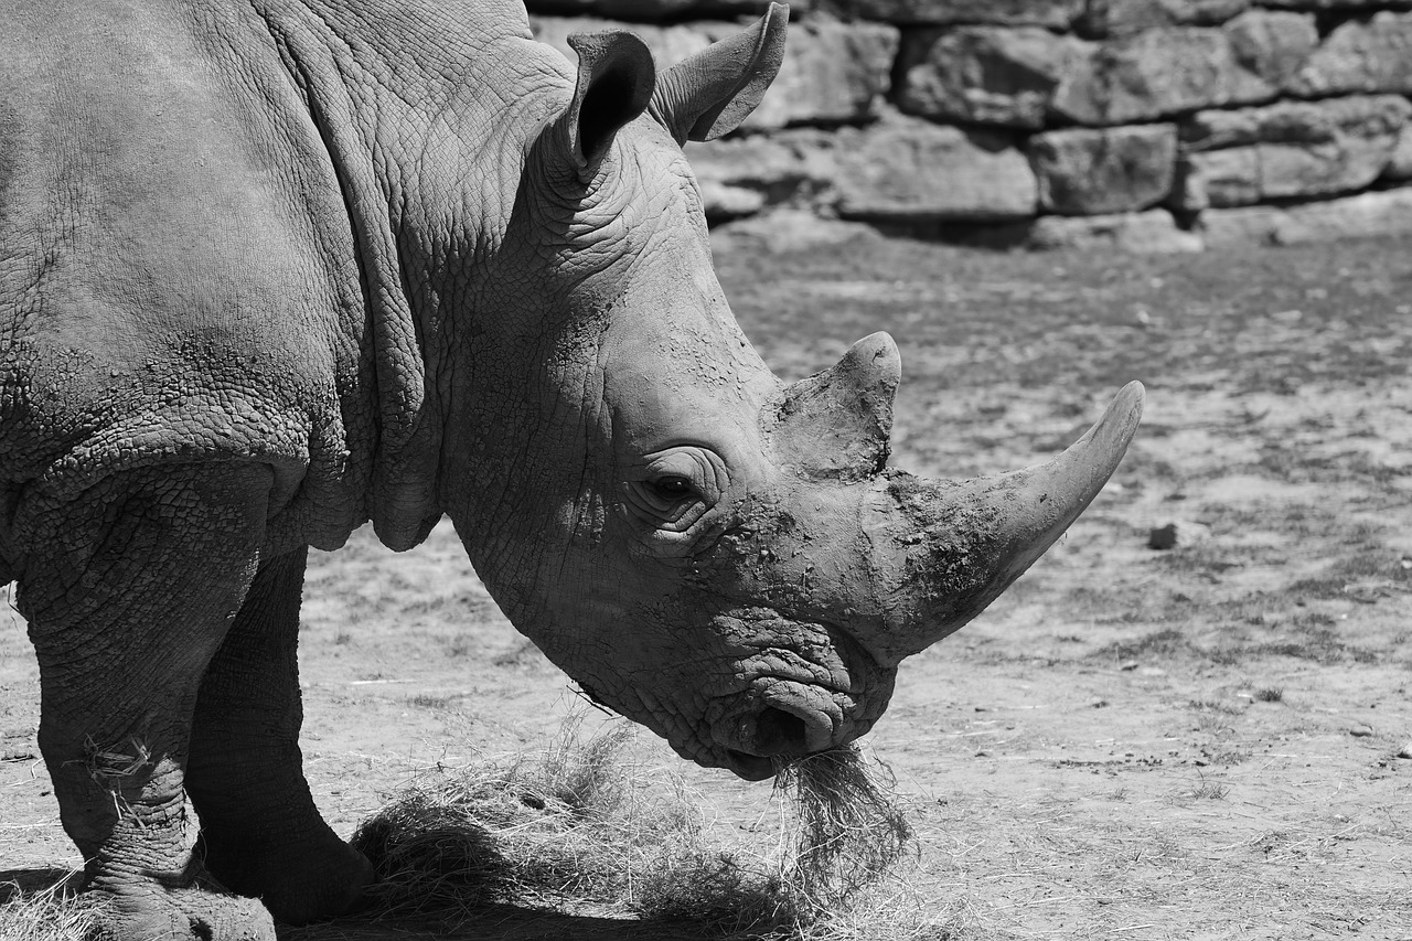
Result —
<svg viewBox="0 0 1412 941"><path fill-rule="evenodd" d="M678 144L716 140L755 110L785 58L789 7L771 3L755 25L666 69L651 112Z"/></svg>

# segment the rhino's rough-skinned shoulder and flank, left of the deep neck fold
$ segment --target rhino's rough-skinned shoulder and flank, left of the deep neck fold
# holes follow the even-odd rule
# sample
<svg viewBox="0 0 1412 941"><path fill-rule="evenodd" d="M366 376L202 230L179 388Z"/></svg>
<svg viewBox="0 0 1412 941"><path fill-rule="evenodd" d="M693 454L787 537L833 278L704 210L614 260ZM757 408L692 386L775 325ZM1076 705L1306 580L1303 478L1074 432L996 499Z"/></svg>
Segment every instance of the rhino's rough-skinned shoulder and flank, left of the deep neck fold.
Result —
<svg viewBox="0 0 1412 941"><path fill-rule="evenodd" d="M288 524L346 530L366 475L347 455L373 432L363 304L295 96L251 106L172 10L18 20L0 52L6 482L62 496L136 466L260 461Z"/></svg>

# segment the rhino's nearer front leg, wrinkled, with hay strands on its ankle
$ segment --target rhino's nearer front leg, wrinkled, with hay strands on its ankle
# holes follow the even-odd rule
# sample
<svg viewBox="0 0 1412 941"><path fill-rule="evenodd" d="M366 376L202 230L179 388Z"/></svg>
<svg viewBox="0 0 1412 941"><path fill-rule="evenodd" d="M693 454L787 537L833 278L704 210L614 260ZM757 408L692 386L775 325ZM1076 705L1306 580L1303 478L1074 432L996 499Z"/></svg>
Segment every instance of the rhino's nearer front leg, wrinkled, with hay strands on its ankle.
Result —
<svg viewBox="0 0 1412 941"><path fill-rule="evenodd" d="M256 574L271 482L257 465L152 468L20 507L40 749L88 887L109 897L106 938L274 940L270 913L192 855L182 781L196 691Z"/></svg>

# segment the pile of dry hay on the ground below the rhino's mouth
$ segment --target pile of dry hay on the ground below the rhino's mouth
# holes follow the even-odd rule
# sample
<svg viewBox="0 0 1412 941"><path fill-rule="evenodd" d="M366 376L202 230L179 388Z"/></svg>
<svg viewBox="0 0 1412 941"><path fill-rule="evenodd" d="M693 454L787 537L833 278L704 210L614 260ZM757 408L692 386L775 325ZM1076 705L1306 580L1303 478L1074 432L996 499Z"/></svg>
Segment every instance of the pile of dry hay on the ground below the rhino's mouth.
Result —
<svg viewBox="0 0 1412 941"><path fill-rule="evenodd" d="M450 928L513 904L685 921L713 937L799 938L914 845L854 747L778 770L785 812L771 859L707 845L700 795L624 759L628 723L587 742L579 732L572 722L538 764L414 786L364 822L353 845L377 869L378 907Z"/></svg>

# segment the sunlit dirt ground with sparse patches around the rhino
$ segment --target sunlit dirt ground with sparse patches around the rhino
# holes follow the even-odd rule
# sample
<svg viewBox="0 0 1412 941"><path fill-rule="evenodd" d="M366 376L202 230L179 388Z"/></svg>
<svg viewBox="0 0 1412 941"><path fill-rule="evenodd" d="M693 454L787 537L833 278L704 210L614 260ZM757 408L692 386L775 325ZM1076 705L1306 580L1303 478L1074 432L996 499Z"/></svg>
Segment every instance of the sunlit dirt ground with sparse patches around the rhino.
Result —
<svg viewBox="0 0 1412 941"><path fill-rule="evenodd" d="M1412 938L1409 250L722 239L727 294L785 379L894 333L898 466L1018 468L1121 383L1148 386L1114 482L986 615L904 664L867 739L918 831L892 903L916 937ZM1149 548L1169 523L1176 545ZM417 773L532 753L582 711L445 524L404 555L356 534L318 554L305 596L305 766L343 834ZM0 882L78 862L37 759L35 673L0 606ZM723 844L777 839L768 784L645 735L635 753L700 791ZM466 937L659 934L510 918Z"/></svg>

